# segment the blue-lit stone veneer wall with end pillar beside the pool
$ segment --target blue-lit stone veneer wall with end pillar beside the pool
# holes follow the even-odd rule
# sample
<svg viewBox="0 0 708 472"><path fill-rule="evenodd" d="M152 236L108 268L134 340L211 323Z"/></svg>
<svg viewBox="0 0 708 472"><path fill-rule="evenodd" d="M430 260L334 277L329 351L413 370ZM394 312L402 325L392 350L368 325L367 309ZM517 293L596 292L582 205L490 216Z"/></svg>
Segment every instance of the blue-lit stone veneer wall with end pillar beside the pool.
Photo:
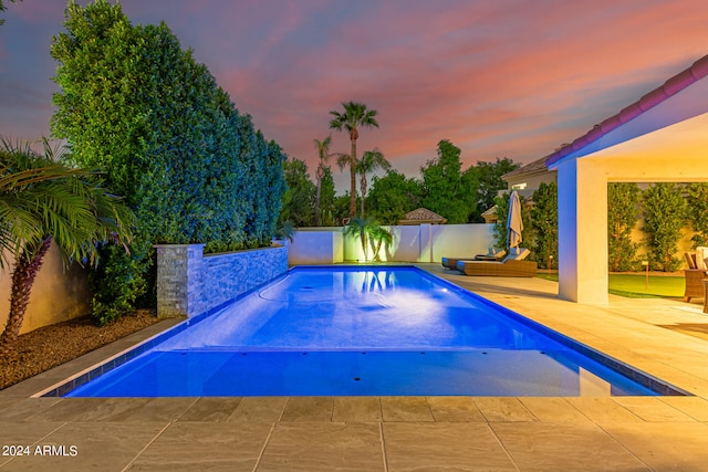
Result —
<svg viewBox="0 0 708 472"><path fill-rule="evenodd" d="M288 272L288 248L204 255L204 244L158 244L157 316L197 316Z"/></svg>

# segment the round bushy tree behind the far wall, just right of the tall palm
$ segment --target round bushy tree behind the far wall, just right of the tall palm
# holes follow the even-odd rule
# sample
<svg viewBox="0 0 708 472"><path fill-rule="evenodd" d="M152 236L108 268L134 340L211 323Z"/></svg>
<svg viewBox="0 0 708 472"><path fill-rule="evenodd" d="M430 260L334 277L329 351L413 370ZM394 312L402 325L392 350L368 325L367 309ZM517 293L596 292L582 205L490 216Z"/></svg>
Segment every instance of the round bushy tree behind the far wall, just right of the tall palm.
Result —
<svg viewBox="0 0 708 472"><path fill-rule="evenodd" d="M384 177L374 177L366 196L366 207L372 217L383 224L397 224L408 211L420 207L421 198L420 180L388 170Z"/></svg>

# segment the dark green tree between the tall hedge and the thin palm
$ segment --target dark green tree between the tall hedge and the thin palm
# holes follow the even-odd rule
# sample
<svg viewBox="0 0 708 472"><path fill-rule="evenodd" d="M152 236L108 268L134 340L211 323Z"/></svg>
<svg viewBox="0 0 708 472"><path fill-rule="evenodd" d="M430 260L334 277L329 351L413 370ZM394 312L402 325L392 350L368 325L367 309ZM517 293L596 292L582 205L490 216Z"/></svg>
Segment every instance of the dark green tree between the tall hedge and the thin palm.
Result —
<svg viewBox="0 0 708 472"><path fill-rule="evenodd" d="M295 227L312 225L315 186L310 181L308 165L304 160L291 157L283 162L283 175L288 190L283 195L279 221L290 221Z"/></svg>

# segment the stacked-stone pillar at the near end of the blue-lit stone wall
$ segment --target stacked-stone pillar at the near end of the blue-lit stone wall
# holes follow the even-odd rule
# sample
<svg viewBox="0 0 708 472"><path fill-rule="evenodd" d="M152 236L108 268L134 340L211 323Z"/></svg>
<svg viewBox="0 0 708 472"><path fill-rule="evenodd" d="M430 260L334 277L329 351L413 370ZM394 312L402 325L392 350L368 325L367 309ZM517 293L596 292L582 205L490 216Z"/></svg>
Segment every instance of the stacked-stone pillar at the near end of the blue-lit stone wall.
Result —
<svg viewBox="0 0 708 472"><path fill-rule="evenodd" d="M156 244L157 316L200 313L204 244Z"/></svg>

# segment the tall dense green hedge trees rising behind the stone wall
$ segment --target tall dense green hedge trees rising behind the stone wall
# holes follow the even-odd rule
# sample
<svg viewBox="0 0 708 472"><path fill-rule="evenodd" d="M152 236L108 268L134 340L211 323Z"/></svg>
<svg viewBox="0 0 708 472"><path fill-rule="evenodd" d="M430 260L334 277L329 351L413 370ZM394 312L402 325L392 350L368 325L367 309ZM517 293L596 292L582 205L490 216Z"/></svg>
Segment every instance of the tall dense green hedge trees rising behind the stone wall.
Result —
<svg viewBox="0 0 708 472"><path fill-rule="evenodd" d="M94 313L111 319L140 298L155 303L155 243L269 244L285 156L165 23L133 27L106 0L70 1L65 14L51 49L52 133L79 166L104 168L137 216L131 256L107 249L94 274Z"/></svg>

